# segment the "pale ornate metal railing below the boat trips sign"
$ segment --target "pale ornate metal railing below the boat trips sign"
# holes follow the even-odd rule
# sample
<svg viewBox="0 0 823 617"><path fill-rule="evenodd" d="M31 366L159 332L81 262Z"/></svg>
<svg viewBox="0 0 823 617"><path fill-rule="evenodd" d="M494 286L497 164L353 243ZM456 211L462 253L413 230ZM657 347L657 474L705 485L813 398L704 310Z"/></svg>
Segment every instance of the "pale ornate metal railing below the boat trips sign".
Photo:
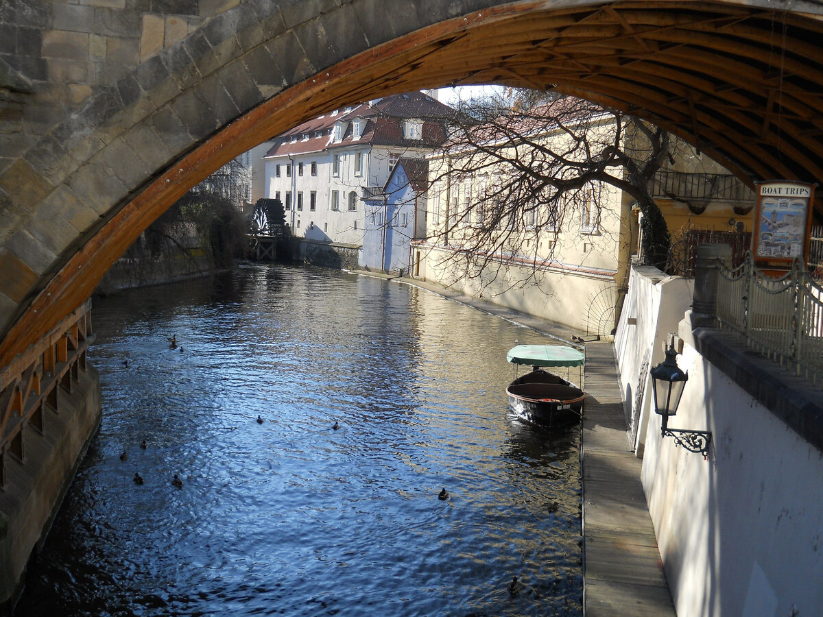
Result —
<svg viewBox="0 0 823 617"><path fill-rule="evenodd" d="M746 346L823 386L823 287L800 262L780 278L758 271L751 254L740 267L719 267L719 327Z"/></svg>

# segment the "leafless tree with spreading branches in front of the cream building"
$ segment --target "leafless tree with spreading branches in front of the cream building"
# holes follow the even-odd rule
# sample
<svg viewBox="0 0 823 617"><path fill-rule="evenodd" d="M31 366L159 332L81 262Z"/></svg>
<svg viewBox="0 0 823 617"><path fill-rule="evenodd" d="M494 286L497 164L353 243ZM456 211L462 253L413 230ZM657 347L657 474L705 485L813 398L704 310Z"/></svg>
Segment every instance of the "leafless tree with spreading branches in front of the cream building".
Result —
<svg viewBox="0 0 823 617"><path fill-rule="evenodd" d="M599 220L604 187L634 198L643 214L642 258L665 265L669 234L650 187L671 157L666 131L585 100L531 91L461 101L457 112L431 163L430 191L440 203L429 239L449 247L463 276L488 276L509 262L520 271L532 264L533 275L555 257L571 217Z"/></svg>

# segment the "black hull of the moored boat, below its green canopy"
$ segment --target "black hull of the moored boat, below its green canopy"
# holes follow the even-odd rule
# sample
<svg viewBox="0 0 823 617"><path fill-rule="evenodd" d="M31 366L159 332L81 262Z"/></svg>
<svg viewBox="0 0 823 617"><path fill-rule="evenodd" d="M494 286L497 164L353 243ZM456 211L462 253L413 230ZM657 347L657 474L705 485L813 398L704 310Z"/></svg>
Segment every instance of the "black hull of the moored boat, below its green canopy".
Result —
<svg viewBox="0 0 823 617"><path fill-rule="evenodd" d="M586 397L574 383L540 369L509 383L506 395L518 418L548 429L579 422Z"/></svg>

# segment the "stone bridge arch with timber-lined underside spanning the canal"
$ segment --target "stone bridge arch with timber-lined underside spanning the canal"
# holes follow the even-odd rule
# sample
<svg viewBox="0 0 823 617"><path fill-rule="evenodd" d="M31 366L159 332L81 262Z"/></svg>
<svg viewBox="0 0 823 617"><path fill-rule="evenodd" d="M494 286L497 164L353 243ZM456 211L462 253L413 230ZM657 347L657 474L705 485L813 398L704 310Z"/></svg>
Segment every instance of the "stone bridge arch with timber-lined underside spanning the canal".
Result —
<svg viewBox="0 0 823 617"><path fill-rule="evenodd" d="M770 0L6 2L0 367L193 184L375 95L555 87L649 118L749 182L814 182L821 15Z"/></svg>

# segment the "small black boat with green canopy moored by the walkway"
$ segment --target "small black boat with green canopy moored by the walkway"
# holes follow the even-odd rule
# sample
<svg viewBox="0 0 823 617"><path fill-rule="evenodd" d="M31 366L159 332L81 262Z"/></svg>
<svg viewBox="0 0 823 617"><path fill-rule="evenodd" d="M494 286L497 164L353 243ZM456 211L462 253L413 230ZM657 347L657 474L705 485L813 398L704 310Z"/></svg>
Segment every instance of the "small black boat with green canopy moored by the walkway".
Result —
<svg viewBox="0 0 823 617"><path fill-rule="evenodd" d="M518 345L509 350L507 359L532 367L531 373L515 378L506 388L509 406L518 418L549 429L579 422L586 395L569 381L568 369L583 367L586 356L582 351L560 345ZM566 378L542 367L565 367Z"/></svg>

